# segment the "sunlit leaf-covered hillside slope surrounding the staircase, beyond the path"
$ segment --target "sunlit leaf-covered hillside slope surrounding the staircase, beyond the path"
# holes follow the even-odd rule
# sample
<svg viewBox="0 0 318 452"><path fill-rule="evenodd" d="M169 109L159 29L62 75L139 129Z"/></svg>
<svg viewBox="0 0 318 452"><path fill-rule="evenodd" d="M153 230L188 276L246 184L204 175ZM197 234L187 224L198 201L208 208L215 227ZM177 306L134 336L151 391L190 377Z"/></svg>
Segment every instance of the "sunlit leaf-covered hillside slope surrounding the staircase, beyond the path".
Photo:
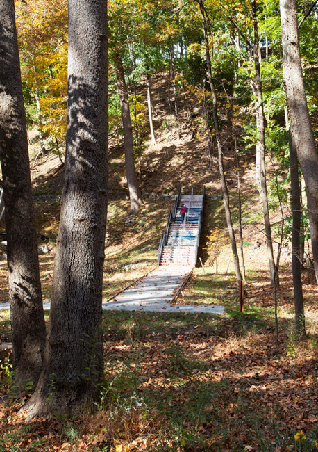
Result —
<svg viewBox="0 0 318 452"><path fill-rule="evenodd" d="M144 93L145 84L140 87ZM192 282L188 284L179 302L216 302L223 304L237 300L231 250L228 242L223 203L215 195L221 194L218 166L215 158L210 161L205 140L194 134L196 127L188 118L183 99L180 102L181 139L177 139L174 115L167 106L167 78L158 74L153 83L155 105L155 131L157 144L145 142L144 152L136 159L144 204L135 217L129 216L128 188L124 171L124 149L120 136L110 137L109 150L109 207L106 233L106 261L104 275L104 298L108 298L140 275L147 273L157 264L157 248L160 234L165 227L169 209L174 204L174 195L182 184L183 192L202 193L206 187L206 203L199 257L205 266L206 275L196 268ZM47 243L47 255L40 257L44 298L49 300L53 257L58 232L59 201L62 192L63 168L54 154L39 156L37 136L31 134L31 177L37 216L37 232L40 243ZM233 220L237 231L237 175L235 155L224 150L224 166L231 197ZM269 287L269 271L262 226L262 213L256 191L253 170L253 152L249 151L241 163L242 217L244 257L247 269L246 287L249 299L265 293L267 304L272 304ZM272 170L271 164L268 168ZM271 220L278 223L280 214L272 212ZM4 225L2 224L2 230ZM238 234L237 234L237 243ZM276 244L277 248L277 244ZM217 259L216 259L217 256ZM290 249L284 248L282 264L283 302L292 307L292 276L288 265L291 261ZM215 273L219 275L215 275ZM6 263L1 263L1 300L6 300ZM221 280L221 284L219 284ZM205 289L198 289L196 282ZM254 284L252 284L254 282ZM306 282L308 280L306 279ZM311 282L311 281L310 281ZM225 284L226 288L222 287ZM311 299L313 286L305 286L306 298ZM310 300L310 305L314 303ZM233 305L232 305L233 307Z"/></svg>

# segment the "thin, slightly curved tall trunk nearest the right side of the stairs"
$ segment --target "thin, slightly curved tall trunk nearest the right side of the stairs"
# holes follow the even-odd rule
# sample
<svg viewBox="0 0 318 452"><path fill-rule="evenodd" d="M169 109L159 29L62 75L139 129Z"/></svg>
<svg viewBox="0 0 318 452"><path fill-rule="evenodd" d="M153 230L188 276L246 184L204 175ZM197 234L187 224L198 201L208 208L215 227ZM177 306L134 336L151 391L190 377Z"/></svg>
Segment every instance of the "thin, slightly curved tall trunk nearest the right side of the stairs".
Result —
<svg viewBox="0 0 318 452"><path fill-rule="evenodd" d="M203 0L198 0L198 3L199 3L199 7L200 7L200 12L201 12L202 28L203 28L205 47L206 47L206 64L207 64L207 69L208 69L208 83L210 85L210 90L212 92L212 99L213 99L213 121L215 124L215 137L217 139L217 150L218 150L218 154L219 154L219 175L220 175L221 186L222 186L222 191L223 191L224 211L225 211L225 216L226 216L226 223L228 225L228 234L230 236L230 241L231 241L235 275L236 275L237 283L240 286L240 284L242 284L242 275L240 272L240 261L239 261L238 255L237 255L237 246L236 246L235 234L234 234L232 217L231 217L230 201L229 201L229 197L228 197L228 187L226 186L226 179L225 179L225 175L224 175L221 134L219 131L219 119L217 117L217 95L215 92L215 86L214 86L213 79L212 79L210 49L209 49L209 43L208 43L208 33L206 30L206 17L204 15Z"/></svg>

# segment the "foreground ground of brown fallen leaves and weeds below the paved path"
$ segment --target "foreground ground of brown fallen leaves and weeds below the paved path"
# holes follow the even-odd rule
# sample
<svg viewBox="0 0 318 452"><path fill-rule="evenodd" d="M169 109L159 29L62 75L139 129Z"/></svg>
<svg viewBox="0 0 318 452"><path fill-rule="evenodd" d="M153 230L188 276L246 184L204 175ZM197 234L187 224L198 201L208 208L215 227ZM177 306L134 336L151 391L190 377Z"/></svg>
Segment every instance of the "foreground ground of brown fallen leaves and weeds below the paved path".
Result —
<svg viewBox="0 0 318 452"><path fill-rule="evenodd" d="M21 401L3 403L0 451L315 450L313 334L297 345L282 319L275 346L272 318L253 312L104 313L103 327L97 412L24 426Z"/></svg>

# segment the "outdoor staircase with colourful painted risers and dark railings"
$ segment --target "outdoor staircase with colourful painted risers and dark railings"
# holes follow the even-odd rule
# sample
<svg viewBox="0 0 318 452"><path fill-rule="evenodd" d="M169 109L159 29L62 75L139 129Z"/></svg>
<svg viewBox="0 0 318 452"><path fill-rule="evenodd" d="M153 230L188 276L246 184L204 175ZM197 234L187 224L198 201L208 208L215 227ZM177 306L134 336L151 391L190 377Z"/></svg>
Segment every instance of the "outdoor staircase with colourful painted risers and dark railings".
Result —
<svg viewBox="0 0 318 452"><path fill-rule="evenodd" d="M162 232L158 248L158 265L195 266L203 218L203 188L202 195L182 195L181 187L171 209L165 232ZM181 220L180 207L185 204L187 213Z"/></svg>

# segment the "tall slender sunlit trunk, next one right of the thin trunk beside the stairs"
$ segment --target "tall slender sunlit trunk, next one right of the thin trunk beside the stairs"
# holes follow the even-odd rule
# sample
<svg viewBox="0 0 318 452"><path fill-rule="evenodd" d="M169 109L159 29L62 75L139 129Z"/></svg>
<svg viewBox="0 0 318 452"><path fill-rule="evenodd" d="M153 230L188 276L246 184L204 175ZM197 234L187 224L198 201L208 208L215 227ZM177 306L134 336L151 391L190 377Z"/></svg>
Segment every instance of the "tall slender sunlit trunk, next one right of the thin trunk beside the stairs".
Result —
<svg viewBox="0 0 318 452"><path fill-rule="evenodd" d="M258 19L256 1L251 2L254 28L254 43L253 43L253 60L255 66L255 81L253 83L257 104L256 104L256 123L258 125L258 144L256 145L259 151L260 162L260 200L262 202L262 211L264 216L266 243L267 243L267 258L269 261L269 271L271 274L271 285L274 284L274 276L276 275L276 286L278 286L278 273L275 272L275 260L273 252L273 241L271 239L271 223L269 220L269 209L267 199L267 183L266 183L266 168L265 168L265 114L262 100L262 79L260 76L260 60L258 58ZM257 162L258 163L258 162ZM257 165L256 165L257 166Z"/></svg>

